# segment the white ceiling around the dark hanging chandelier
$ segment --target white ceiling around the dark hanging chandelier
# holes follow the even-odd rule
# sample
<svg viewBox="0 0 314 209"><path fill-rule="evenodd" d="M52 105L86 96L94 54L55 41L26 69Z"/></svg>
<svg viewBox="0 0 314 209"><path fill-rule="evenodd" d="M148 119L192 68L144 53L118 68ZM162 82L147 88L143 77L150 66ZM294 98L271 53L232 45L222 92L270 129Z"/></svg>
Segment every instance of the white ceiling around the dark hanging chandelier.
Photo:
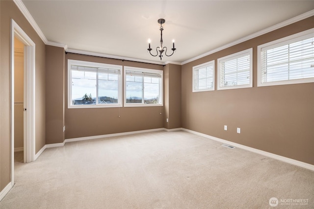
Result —
<svg viewBox="0 0 314 209"><path fill-rule="evenodd" d="M163 42L162 62L184 62L314 9L313 0L22 0L48 41L69 49L160 61L147 52Z"/></svg>

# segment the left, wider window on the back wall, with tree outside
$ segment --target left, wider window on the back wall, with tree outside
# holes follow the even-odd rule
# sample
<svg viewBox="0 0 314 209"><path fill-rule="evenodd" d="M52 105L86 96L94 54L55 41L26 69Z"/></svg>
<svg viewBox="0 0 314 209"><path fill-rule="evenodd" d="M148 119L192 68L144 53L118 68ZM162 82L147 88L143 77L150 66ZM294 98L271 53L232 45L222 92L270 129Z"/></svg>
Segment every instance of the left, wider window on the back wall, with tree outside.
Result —
<svg viewBox="0 0 314 209"><path fill-rule="evenodd" d="M122 66L68 60L68 108L122 106Z"/></svg>

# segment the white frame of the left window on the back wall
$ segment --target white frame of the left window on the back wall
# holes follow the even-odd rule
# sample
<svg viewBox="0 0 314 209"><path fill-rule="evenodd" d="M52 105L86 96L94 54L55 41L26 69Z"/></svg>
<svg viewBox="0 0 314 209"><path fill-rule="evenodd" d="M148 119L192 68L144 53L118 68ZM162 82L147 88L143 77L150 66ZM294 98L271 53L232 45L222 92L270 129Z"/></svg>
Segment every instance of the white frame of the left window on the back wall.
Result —
<svg viewBox="0 0 314 209"><path fill-rule="evenodd" d="M84 105L73 105L72 104L72 71L71 65L78 65L84 67L94 68L110 68L120 70L120 76L118 77L118 103L117 104L84 104ZM105 108L105 107L121 107L122 106L122 65L111 65L98 62L88 62L81 60L68 59L68 108ZM98 78L97 78L98 79ZM98 87L96 86L96 89ZM83 95L82 95L83 96Z"/></svg>

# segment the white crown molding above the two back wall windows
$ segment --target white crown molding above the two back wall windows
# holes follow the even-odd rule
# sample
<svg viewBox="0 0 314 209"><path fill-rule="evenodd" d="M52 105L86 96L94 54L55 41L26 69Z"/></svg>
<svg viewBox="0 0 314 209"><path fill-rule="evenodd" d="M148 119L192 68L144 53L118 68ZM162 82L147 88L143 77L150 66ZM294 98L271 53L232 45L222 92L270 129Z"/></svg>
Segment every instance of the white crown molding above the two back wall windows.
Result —
<svg viewBox="0 0 314 209"><path fill-rule="evenodd" d="M118 55L112 55L112 54L106 54L106 53L100 53L100 52L89 52L89 51L85 51L85 50L67 49L66 52L78 53L78 54L90 55L90 56L99 56L99 57L110 58L110 59L121 59L124 61L133 61L133 62L143 62L143 63L148 63L148 64L165 65L164 62L157 62L157 61L151 61L151 60L146 60L146 59L136 59L136 58L126 57L126 56L118 56Z"/></svg>

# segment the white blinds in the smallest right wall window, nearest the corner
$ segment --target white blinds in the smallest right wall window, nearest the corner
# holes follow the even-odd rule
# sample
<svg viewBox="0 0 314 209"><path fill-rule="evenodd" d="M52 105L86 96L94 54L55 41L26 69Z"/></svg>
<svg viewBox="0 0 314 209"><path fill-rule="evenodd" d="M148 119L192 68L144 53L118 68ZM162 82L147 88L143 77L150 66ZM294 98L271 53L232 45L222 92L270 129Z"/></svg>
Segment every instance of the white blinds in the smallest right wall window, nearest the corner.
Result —
<svg viewBox="0 0 314 209"><path fill-rule="evenodd" d="M214 82L213 64L195 68L193 74L195 91L213 88Z"/></svg>

